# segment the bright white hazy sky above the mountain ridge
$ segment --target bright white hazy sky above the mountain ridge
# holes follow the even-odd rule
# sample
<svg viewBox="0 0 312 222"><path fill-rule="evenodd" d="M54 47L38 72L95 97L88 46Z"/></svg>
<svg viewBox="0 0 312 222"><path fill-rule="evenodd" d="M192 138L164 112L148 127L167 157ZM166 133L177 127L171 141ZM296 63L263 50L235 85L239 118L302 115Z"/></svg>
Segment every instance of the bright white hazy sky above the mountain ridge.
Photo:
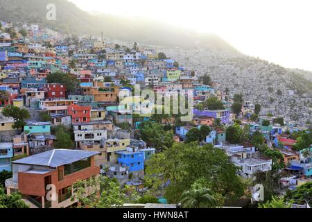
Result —
<svg viewBox="0 0 312 222"><path fill-rule="evenodd" d="M312 71L311 0L69 0L83 10L135 15L216 33L239 51Z"/></svg>

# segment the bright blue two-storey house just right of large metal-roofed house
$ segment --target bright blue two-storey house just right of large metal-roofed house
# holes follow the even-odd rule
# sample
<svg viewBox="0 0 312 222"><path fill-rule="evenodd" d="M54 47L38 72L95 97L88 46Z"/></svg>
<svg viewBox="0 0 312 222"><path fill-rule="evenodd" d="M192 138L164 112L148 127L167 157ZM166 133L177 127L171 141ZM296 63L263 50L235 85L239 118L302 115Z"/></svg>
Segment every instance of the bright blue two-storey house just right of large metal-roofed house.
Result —
<svg viewBox="0 0 312 222"><path fill-rule="evenodd" d="M122 167L129 167L129 172L144 170L144 151L138 151L135 148L127 148L126 151L116 152L117 162Z"/></svg>

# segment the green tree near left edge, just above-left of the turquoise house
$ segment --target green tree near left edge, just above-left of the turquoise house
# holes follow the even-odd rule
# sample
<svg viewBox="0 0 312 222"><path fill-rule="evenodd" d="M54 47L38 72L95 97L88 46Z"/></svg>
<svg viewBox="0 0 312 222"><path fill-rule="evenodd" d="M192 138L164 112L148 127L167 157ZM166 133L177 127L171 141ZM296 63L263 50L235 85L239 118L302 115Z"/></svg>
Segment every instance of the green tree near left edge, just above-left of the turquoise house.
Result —
<svg viewBox="0 0 312 222"><path fill-rule="evenodd" d="M11 117L14 119L14 124L12 128L14 129L22 129L26 125L26 119L29 119L31 117L31 114L29 114L28 110L25 108L18 108L13 105L7 105L2 110L2 114L4 117Z"/></svg>

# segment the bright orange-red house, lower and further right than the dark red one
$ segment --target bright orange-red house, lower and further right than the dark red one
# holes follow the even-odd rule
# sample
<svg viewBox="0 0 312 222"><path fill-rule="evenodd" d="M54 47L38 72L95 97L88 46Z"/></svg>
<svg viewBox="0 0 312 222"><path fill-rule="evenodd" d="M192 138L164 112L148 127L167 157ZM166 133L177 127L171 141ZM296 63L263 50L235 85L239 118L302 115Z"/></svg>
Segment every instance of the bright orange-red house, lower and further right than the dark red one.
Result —
<svg viewBox="0 0 312 222"><path fill-rule="evenodd" d="M67 113L72 123L89 123L91 121L91 106L69 105Z"/></svg>

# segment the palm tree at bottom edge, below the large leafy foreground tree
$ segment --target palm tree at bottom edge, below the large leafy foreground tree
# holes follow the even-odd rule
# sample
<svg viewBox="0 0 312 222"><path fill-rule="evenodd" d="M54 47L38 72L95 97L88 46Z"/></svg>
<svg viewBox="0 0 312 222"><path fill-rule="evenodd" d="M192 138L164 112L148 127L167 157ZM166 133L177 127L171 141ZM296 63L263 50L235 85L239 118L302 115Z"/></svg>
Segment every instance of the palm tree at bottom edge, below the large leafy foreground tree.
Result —
<svg viewBox="0 0 312 222"><path fill-rule="evenodd" d="M198 182L194 183L191 189L184 191L181 197L183 207L203 208L217 206L217 201L216 198L214 198L213 192L207 187L202 187Z"/></svg>

